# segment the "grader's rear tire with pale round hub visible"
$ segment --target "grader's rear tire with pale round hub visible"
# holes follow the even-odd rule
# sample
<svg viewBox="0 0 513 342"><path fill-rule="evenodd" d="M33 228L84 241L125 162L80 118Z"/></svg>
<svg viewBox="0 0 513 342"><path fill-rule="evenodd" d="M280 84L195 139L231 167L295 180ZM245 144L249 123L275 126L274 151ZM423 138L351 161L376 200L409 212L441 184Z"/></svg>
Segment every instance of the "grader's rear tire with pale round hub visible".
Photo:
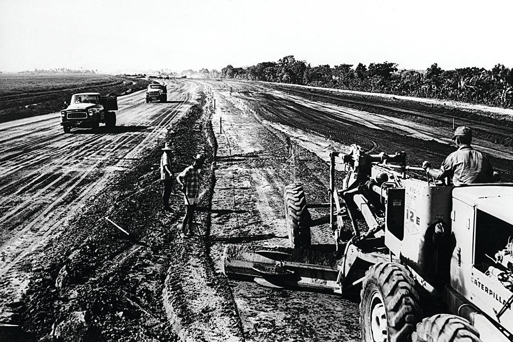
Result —
<svg viewBox="0 0 513 342"><path fill-rule="evenodd" d="M415 281L404 266L372 265L365 273L361 299L362 341L410 341L422 315Z"/></svg>

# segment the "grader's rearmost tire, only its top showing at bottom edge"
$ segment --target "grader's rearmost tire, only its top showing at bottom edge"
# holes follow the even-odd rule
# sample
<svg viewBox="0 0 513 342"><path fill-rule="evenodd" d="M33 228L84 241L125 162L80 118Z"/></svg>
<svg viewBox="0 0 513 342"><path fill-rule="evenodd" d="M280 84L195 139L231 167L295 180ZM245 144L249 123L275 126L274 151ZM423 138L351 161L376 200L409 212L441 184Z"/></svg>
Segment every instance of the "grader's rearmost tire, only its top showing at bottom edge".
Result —
<svg viewBox="0 0 513 342"><path fill-rule="evenodd" d="M413 342L481 342L479 332L468 320L447 314L424 318L411 339Z"/></svg>

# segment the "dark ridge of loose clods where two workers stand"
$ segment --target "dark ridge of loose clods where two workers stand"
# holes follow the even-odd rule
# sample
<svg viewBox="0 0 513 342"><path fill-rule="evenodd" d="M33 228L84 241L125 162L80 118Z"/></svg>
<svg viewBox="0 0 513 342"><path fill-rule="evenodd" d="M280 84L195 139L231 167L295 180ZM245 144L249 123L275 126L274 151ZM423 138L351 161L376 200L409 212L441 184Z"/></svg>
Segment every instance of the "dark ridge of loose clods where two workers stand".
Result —
<svg viewBox="0 0 513 342"><path fill-rule="evenodd" d="M210 126L206 104L202 96L170 125L166 140L173 143L175 172L190 164L194 153L207 155L203 175L207 192L202 206L208 208L214 149L207 142ZM179 235L182 197L172 197L172 212L162 210L156 165L162 145L155 143L135 168L90 200L66 232L50 244L38 265L26 265L36 273L35 280L16 303L15 319L27 334L14 334L13 339L177 340L191 325L204 324L215 330L217 325L208 323L215 321L216 315L236 317L228 288L211 267L204 240L184 240ZM130 236L107 222L105 216ZM208 234L209 215L197 218ZM191 256L194 258L189 260ZM189 278L194 271L205 274L203 283ZM187 286L211 289L218 300L196 312L188 306L192 296L201 293ZM237 322L236 318L227 319L226 326L234 328L220 332L220 336L238 334ZM200 333L188 336L192 336L190 340L196 340L194 336L206 338Z"/></svg>

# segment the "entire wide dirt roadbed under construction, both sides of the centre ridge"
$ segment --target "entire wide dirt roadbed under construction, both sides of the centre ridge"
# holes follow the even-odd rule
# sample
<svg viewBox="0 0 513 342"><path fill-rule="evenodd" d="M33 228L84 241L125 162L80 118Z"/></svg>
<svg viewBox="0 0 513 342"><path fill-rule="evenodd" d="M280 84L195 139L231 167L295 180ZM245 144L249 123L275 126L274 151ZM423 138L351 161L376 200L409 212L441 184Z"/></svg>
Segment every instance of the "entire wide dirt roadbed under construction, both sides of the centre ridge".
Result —
<svg viewBox="0 0 513 342"><path fill-rule="evenodd" d="M0 125L0 322L21 307L22 321L38 337L55 336L53 326L87 312L92 316L83 320L100 340L358 340L358 297L227 281L222 251L227 244L286 246L283 189L302 183L308 202L326 202L330 151L359 144L406 151L410 165L440 164L454 150L447 119L411 108L377 112L371 102L366 111L332 94L262 84L170 83L171 103L146 105L143 93L120 99L114 133L64 134L56 115ZM199 89L213 91L215 110L208 99L183 116ZM500 128L500 139L486 132L476 139L504 180L513 176L508 127ZM163 212L152 162L142 163L148 155L157 162L155 142L168 129L178 166L194 153L207 155L196 216L201 236L194 238L180 237L182 198L173 197L172 212ZM103 193L111 183L111 193ZM110 209L135 240L104 233L98 219ZM84 241L73 237L79 230ZM326 226L312 230L314 244L331 239ZM54 257L45 268L37 263L45 253L64 252L64 260ZM72 284L59 287L64 272L73 274ZM31 302L19 303L27 288Z"/></svg>

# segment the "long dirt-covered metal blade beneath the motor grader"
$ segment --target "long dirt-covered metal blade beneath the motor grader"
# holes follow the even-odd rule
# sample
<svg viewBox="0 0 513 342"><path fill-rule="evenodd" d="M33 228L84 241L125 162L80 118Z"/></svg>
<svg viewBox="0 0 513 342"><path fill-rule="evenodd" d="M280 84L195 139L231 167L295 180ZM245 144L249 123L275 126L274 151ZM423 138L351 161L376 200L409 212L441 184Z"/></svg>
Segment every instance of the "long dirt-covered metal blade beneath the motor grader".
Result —
<svg viewBox="0 0 513 342"><path fill-rule="evenodd" d="M333 247L293 249L227 245L223 273L273 288L305 288L340 292L337 252Z"/></svg>

